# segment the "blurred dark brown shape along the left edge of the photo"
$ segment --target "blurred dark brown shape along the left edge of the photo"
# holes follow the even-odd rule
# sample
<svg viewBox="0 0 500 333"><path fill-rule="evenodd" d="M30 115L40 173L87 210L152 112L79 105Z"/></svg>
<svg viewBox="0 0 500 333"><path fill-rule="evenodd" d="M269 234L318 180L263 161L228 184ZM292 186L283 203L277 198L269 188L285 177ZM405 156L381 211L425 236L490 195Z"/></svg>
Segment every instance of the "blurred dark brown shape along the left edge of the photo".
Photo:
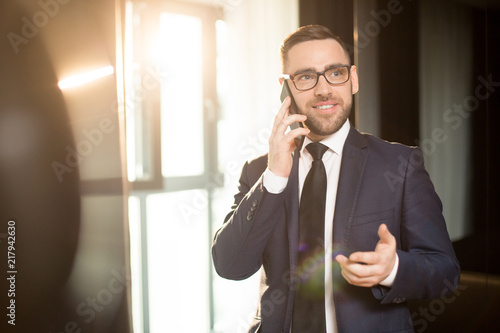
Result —
<svg viewBox="0 0 500 333"><path fill-rule="evenodd" d="M22 2L0 3L0 295L2 332L56 332L68 321L64 285L80 227L79 172L59 181L51 166L66 159L73 135L53 66L41 38L15 52ZM20 35L22 36L22 35ZM8 221L15 222L15 297L7 292ZM15 299L15 326L6 307Z"/></svg>

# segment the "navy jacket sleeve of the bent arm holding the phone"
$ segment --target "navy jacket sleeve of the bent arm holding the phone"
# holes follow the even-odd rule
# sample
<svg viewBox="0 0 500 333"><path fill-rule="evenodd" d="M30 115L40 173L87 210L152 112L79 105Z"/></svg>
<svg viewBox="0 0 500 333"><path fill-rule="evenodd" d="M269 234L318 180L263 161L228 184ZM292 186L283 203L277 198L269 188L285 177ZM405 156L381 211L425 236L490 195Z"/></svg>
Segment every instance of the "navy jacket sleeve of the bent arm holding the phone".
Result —
<svg viewBox="0 0 500 333"><path fill-rule="evenodd" d="M266 161L245 163L232 210L215 234L212 258L221 277L242 280L259 270L276 221L284 213L283 194L271 194L263 186Z"/></svg>

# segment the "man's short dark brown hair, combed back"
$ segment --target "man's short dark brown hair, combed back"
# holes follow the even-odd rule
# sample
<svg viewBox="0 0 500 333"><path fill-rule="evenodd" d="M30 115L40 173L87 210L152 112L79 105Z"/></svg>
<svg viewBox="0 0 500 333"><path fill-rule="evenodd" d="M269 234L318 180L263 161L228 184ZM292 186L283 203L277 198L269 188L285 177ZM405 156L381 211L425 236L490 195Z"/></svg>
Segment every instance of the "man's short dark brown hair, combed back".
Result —
<svg viewBox="0 0 500 333"><path fill-rule="evenodd" d="M290 34L281 44L281 68L283 72L285 71L285 63L288 60L288 51L290 51L293 46L302 42L324 39L336 40L344 50L347 60L349 61L349 65L351 64L349 51L347 50L344 41L339 36L335 35L330 29L322 25L305 25Z"/></svg>

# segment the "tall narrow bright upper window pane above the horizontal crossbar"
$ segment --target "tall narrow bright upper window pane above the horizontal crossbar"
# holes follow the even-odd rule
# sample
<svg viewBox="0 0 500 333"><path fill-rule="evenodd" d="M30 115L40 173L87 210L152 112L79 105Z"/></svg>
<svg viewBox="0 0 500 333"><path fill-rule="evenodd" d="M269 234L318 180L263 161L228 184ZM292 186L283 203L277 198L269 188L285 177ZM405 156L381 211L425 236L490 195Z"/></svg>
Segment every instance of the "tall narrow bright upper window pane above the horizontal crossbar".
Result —
<svg viewBox="0 0 500 333"><path fill-rule="evenodd" d="M202 25L197 17L162 13L158 63L162 69L162 173L203 174ZM182 162L180 162L182 161Z"/></svg>

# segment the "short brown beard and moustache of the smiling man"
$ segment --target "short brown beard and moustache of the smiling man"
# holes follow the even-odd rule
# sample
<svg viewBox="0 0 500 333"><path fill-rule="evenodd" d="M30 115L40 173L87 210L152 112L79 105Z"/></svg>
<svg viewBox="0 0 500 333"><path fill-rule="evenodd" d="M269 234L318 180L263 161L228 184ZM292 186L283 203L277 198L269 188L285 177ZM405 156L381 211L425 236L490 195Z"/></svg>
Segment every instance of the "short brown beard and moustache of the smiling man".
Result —
<svg viewBox="0 0 500 333"><path fill-rule="evenodd" d="M308 103L306 105L306 109L314 110L312 105L315 105L319 101L323 101L323 99L318 99ZM343 103L343 101L335 102L338 104L337 110L335 110L333 114L317 114L314 111L305 113L303 111L306 110L300 110L301 114L305 114L307 116L304 124L312 133L319 136L332 135L333 133L336 133L347 121L352 109L352 98L345 103Z"/></svg>

